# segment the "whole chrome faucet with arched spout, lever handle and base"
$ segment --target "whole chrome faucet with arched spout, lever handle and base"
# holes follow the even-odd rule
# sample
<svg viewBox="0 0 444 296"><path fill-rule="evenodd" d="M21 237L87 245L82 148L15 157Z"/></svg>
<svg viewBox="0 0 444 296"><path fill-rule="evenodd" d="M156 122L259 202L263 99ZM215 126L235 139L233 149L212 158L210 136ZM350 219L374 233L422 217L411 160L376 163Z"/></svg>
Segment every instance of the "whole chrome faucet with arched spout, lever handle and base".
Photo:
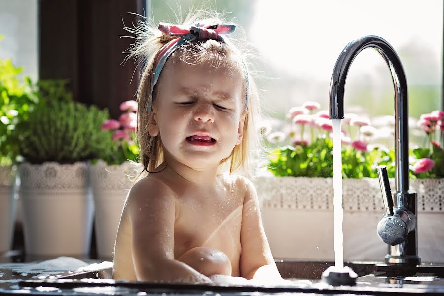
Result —
<svg viewBox="0 0 444 296"><path fill-rule="evenodd" d="M409 191L407 81L401 61L393 47L378 36L365 36L345 46L334 65L330 82L330 119L344 119L345 79L354 58L372 47L384 58L395 88L395 188L391 196L387 171L378 167L378 176L387 213L377 226L379 237L387 243L388 264L420 264L417 234L417 195ZM394 202L393 202L394 200Z"/></svg>

